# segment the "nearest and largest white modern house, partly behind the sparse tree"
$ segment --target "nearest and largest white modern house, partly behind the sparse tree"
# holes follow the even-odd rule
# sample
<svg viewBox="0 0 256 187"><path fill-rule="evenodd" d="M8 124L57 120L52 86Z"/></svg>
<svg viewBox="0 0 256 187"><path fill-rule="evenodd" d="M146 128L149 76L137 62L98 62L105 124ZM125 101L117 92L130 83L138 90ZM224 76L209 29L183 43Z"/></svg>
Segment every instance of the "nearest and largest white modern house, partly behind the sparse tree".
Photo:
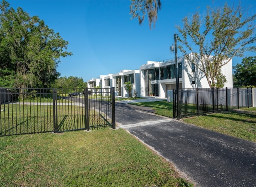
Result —
<svg viewBox="0 0 256 187"><path fill-rule="evenodd" d="M179 67L180 88L209 88L207 79L196 66L184 57L177 59ZM196 63L196 62L195 62ZM166 61L148 61L140 67L140 95L167 97L167 91L176 89L176 64L175 59ZM233 87L232 59L221 69L226 76L227 83L224 87Z"/></svg>

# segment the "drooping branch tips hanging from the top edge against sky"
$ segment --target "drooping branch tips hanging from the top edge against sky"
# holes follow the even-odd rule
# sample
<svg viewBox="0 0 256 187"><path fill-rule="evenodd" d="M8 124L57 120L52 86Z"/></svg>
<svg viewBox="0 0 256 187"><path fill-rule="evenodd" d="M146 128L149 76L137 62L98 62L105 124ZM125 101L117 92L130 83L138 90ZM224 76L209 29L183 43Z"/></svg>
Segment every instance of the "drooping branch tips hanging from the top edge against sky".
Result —
<svg viewBox="0 0 256 187"><path fill-rule="evenodd" d="M138 18L141 25L145 15L148 14L148 25L151 29L151 24L156 24L158 10L161 10L160 0L131 0L130 14L132 18Z"/></svg>

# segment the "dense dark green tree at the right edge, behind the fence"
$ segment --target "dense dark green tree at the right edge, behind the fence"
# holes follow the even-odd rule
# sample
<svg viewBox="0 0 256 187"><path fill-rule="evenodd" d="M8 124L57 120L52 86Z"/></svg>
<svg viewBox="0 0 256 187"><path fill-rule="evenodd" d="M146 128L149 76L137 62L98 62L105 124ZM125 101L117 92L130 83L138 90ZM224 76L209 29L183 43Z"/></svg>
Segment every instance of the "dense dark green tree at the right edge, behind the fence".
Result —
<svg viewBox="0 0 256 187"><path fill-rule="evenodd" d="M256 87L256 56L242 59L242 63L235 65L233 69L236 87Z"/></svg>

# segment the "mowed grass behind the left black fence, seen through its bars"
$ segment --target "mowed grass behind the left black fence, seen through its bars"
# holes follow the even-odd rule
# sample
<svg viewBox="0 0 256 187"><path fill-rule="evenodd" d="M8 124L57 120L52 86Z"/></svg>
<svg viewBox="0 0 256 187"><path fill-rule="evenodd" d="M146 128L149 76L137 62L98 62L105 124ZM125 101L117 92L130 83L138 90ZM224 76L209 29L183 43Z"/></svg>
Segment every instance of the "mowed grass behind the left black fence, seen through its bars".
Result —
<svg viewBox="0 0 256 187"><path fill-rule="evenodd" d="M57 105L58 131L84 129L85 109L75 104ZM0 136L10 134L25 134L35 132L50 132L54 130L53 106L5 104L1 106ZM108 126L112 119L108 116L89 110L89 126Z"/></svg>

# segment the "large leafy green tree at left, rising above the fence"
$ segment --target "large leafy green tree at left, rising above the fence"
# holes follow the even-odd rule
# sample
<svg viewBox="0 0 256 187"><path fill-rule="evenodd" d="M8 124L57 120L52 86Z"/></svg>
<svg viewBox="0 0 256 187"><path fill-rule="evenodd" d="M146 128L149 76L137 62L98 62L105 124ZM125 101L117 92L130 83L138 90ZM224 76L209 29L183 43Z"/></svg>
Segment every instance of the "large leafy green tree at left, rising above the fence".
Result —
<svg viewBox="0 0 256 187"><path fill-rule="evenodd" d="M0 78L14 77L6 86L50 87L60 75L60 57L72 55L66 51L68 42L38 16L9 5L5 0L0 4Z"/></svg>

